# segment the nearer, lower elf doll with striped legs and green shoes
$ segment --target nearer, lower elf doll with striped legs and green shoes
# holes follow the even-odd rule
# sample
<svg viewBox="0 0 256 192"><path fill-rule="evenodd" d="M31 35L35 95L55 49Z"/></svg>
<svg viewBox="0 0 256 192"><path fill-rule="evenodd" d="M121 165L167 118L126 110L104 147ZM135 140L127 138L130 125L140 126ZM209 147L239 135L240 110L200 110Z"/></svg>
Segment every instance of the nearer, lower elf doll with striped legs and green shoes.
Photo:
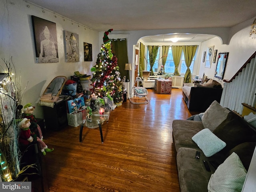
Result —
<svg viewBox="0 0 256 192"><path fill-rule="evenodd" d="M40 138L36 137L36 135L31 132L29 128L30 125L30 119L27 118L23 118L18 123L18 128L20 128L19 142L24 145L28 145L35 138L43 155L46 155L46 152L52 152L54 148L49 149L48 146Z"/></svg>

